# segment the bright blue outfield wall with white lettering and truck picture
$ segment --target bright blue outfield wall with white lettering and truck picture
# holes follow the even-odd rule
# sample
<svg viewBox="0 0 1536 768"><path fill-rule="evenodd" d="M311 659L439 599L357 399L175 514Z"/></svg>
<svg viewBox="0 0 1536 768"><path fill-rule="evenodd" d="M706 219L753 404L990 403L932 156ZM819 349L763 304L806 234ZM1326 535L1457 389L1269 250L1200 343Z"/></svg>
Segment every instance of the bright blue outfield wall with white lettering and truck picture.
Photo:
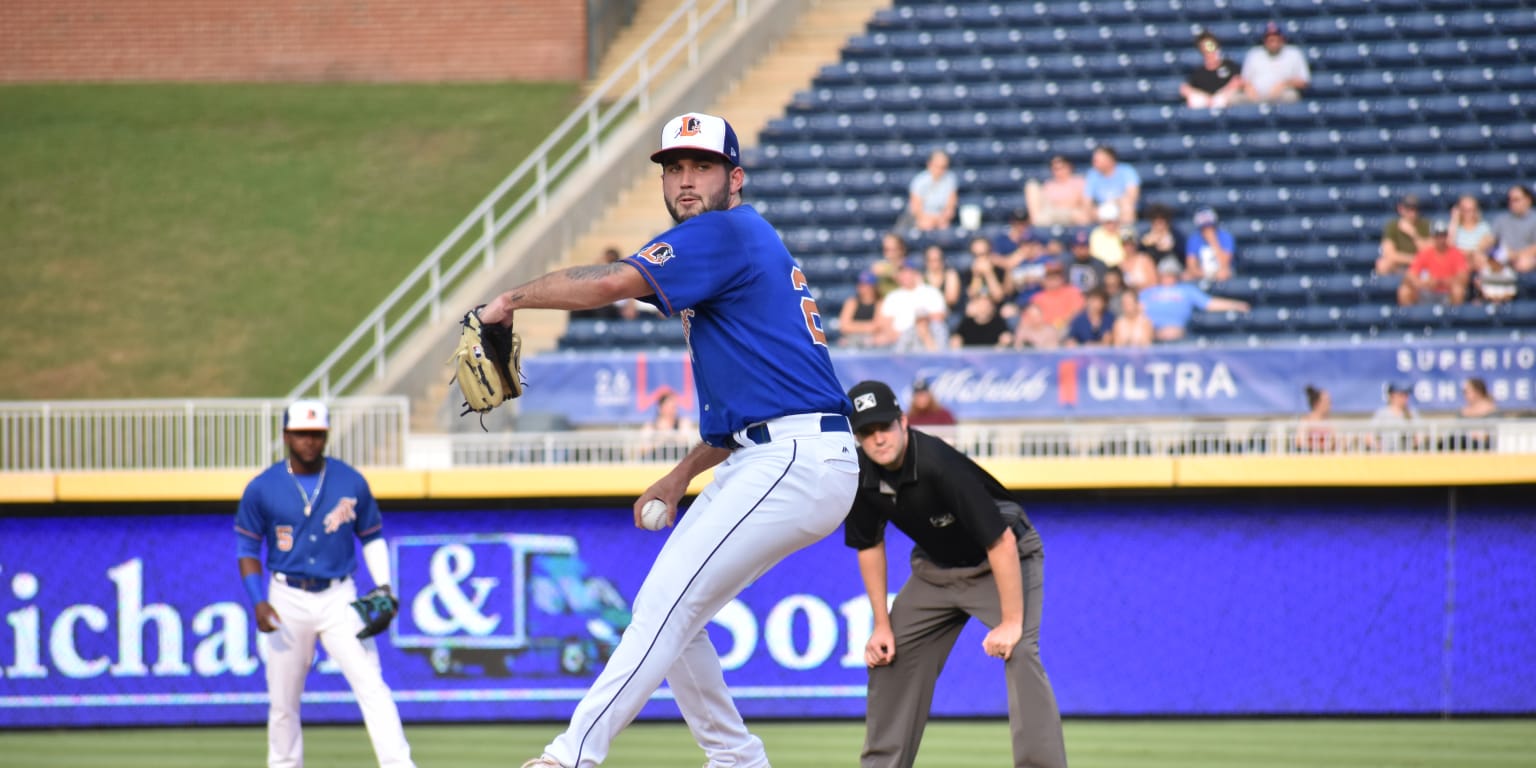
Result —
<svg viewBox="0 0 1536 768"><path fill-rule="evenodd" d="M1057 493L1043 656L1068 716L1536 711L1525 488ZM664 541L628 507L386 510L402 616L381 644L409 720L564 719ZM232 513L0 519L0 727L264 722ZM151 510L154 511L154 510ZM908 545L891 541L892 585ZM367 578L362 576L362 587ZM711 625L748 717L860 717L869 614L840 536ZM968 628L942 716L1006 713ZM310 722L356 720L341 674ZM665 694L644 717L676 717Z"/></svg>

